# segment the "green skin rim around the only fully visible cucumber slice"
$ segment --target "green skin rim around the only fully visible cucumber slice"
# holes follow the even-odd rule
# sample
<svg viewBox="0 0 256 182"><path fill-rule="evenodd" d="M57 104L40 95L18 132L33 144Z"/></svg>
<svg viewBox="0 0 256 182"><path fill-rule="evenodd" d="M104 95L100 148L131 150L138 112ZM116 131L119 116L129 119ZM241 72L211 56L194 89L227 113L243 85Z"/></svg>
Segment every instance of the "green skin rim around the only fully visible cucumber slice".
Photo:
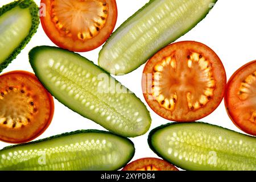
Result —
<svg viewBox="0 0 256 182"><path fill-rule="evenodd" d="M81 56L79 53L72 52L72 51L68 51L67 49L63 49L63 48L59 48L59 47L55 47L55 46L37 46L37 47L34 47L34 48L32 48L31 51L28 53L28 57L29 57L29 60L30 60L31 67L32 67L33 71L35 72L36 77L38 77L38 78L39 78L39 74L38 74L38 71L37 71L37 69L36 69L36 67L35 67L35 65L34 65L34 63L33 63L32 60L34 60L34 55L36 54L36 49L46 49L46 48L60 49L60 50L63 50L63 51L70 52L70 53L72 53L72 54L75 55L75 56L83 57L83 56ZM83 58L86 59L86 57L83 57ZM112 77L108 72L104 71L104 69L102 69L101 67L98 67L96 64L94 64L93 61L90 61L90 60L88 60L88 59L86 59L86 61L88 61L90 64L92 64L92 65L96 66L97 68L99 68L99 69L102 71L102 73L105 73L105 74L109 75L111 78L114 78L114 77ZM114 78L114 80L115 80L115 78ZM39 79L39 81L40 81L40 79ZM40 81L40 82L41 82L41 81ZM46 89L48 90L49 93L52 93L52 90L49 89L48 86L47 86L46 84L44 84L44 82L41 82L41 83L42 83L42 85L44 86L44 88L46 88ZM133 96L134 96L135 98L137 98L137 100L141 101L134 93L130 93L130 94L133 94ZM63 101L59 100L59 98L56 98L54 95L53 95L53 97L54 97L57 101L59 101L61 104L64 103ZM148 126L145 127L145 131L144 131L143 133L141 133L141 134L139 134L139 135L125 135L125 134L118 134L118 133L116 133L116 132L114 132L114 131L110 131L109 128L106 128L106 127L104 127L104 128L106 128L106 129L109 130L110 132L113 132L113 133L115 133L115 134L117 134L117 135L120 135L120 136L122 136L122 137L134 138L134 137L138 137L138 136L141 136L141 135L146 134L147 131L150 129L152 119L151 119L151 116L150 116L150 111L148 111L146 105L145 105L142 101L141 101L141 103L142 103L143 106L145 107L145 109L146 109L146 111L147 111L148 119L149 119L149 120L148 120ZM66 107L68 107L68 109L71 109L72 111L75 111L75 110L72 108L72 106L68 106L67 104L63 104L63 105L66 106ZM77 111L75 111L75 112L78 113L78 114L80 114L82 117L88 118L88 119L90 119L91 121L93 121L92 118L86 116L85 114L79 113L79 112L77 112ZM93 121L93 122L94 122L94 121ZM97 123L97 122L96 122L96 123ZM100 125L99 123L97 123L97 124ZM101 126L101 125L100 125L100 126ZM103 126L102 126L102 127L103 127Z"/></svg>

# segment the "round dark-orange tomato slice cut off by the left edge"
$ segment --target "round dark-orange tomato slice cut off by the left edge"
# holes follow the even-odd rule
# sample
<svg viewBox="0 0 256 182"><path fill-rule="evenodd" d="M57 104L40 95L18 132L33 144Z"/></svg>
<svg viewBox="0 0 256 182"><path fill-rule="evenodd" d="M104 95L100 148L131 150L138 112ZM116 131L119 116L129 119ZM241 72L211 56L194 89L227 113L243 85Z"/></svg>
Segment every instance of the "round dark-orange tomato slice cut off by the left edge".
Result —
<svg viewBox="0 0 256 182"><path fill-rule="evenodd" d="M28 142L47 129L53 98L32 73L14 71L0 76L0 140Z"/></svg>

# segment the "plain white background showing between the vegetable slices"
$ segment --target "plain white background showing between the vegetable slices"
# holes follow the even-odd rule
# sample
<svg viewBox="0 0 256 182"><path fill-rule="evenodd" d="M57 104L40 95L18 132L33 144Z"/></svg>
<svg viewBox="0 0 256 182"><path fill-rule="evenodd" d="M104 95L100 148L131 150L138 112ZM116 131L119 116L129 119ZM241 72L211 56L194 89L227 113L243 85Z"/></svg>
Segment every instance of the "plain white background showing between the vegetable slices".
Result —
<svg viewBox="0 0 256 182"><path fill-rule="evenodd" d="M13 0L1 0L0 6L12 1ZM35 1L38 5L40 4L39 0ZM119 27L122 22L133 15L135 11L140 9L147 2L147 0L117 0L118 20L115 28ZM226 69L227 78L229 79L229 77L242 65L256 59L255 7L255 0L219 0L202 22L177 41L195 40L212 48L222 60ZM26 48L23 49L18 57L3 72L14 70L32 72L32 68L28 63L28 51L35 46L41 45L54 46L51 40L44 34L41 25L39 25L38 32L33 36L30 43L28 43ZM98 52L100 49L101 47L90 52L81 53L81 55L97 64ZM128 75L116 78L146 103L141 89L143 68L144 65ZM150 130L169 122L155 114L150 107L148 107L148 110L150 110L152 118ZM225 111L224 102L222 102L212 114L200 121L212 123L242 133L242 131L237 129L232 121L230 121ZM55 100L55 115L52 123L40 137L36 138L36 140L81 129L105 130L100 125L81 117L81 115L69 110ZM142 137L131 139L135 143L136 148L133 160L144 157L156 157L154 152L148 147L147 135L148 133ZM0 142L0 149L5 146L9 146L9 144Z"/></svg>

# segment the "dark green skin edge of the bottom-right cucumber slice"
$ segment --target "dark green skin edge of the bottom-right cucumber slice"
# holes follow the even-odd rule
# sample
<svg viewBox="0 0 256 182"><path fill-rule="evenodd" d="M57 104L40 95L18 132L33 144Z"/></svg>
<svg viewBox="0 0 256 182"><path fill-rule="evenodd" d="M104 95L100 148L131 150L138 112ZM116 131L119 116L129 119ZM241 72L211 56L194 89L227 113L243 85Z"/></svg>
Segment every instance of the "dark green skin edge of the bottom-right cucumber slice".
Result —
<svg viewBox="0 0 256 182"><path fill-rule="evenodd" d="M207 124L209 126L216 126L216 127L220 127L220 129L225 129L227 131L232 131L234 133L237 133L236 131L233 131L233 130L230 130L230 129L226 129L225 127L221 127L221 126L217 126L217 125L212 125L212 124L209 124L209 123L204 123L204 122L196 122L196 123L203 123L203 124ZM168 127L168 126L172 126L172 125L180 125L180 124L195 124L195 123L191 123L191 122L184 122L184 123L167 123L165 125L161 125L161 126L158 126L156 127L155 129L152 129L150 131L150 133L148 134L148 139L147 139L147 143L148 143L148 146L150 147L150 149L156 154L158 155L160 158L164 159L164 160L167 160L168 162L174 164L175 166L179 167L179 168L182 168L182 169L185 169L185 170L191 170L189 168L186 168L186 167L183 167L183 166L178 166L177 164L175 164L174 162L171 162L169 159L166 159L164 158L161 154L159 154L158 151L156 151L156 149L154 148L153 144L152 144L152 135L154 135L156 133L156 131L159 131L161 129L164 129L165 127ZM241 134L241 133L238 133L238 134ZM245 134L241 134L241 135L245 135ZM251 135L245 135L246 137L251 137L251 138L254 138L256 140L256 137L253 137ZM256 141L255 141L256 142Z"/></svg>

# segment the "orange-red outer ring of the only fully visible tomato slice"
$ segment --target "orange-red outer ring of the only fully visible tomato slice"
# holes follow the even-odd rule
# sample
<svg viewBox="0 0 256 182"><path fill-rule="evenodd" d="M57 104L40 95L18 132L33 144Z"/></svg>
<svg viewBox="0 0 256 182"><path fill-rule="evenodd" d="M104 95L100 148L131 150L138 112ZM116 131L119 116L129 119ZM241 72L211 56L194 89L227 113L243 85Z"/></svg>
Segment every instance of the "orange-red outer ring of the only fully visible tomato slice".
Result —
<svg viewBox="0 0 256 182"><path fill-rule="evenodd" d="M160 58L164 56L166 56L168 53L170 53L171 51L174 51L174 47L176 48L180 48L180 49L189 49L189 47L191 48L191 50L193 51L198 51L197 49L199 49L199 52L201 53L205 53L206 55L210 55L212 56L213 60L216 61L216 63L212 63L216 65L216 68L213 67L213 72L215 72L215 77L216 80L218 81L217 83L217 89L218 93L217 96L213 95L213 99L216 100L214 101L214 104L212 104L211 106L208 107L208 110L203 113L203 111L199 114L191 114L191 116L184 116L181 118L171 118L170 114L168 114L168 112L166 112L165 110L161 110L159 111L159 106L158 103L155 101L151 101L150 99L148 99L148 93L147 93L147 82L145 81L145 79L143 78L147 73L152 73L152 65L154 65L156 62L155 60L159 60ZM171 50L170 50L171 49ZM190 49L189 49L190 50ZM204 52L205 51L205 52ZM151 65L152 64L152 65ZM170 121L175 121L175 122L195 122L201 118L206 117L207 115L213 113L214 110L217 109L217 107L221 104L223 98L224 98L224 94L225 94L225 88L226 88L226 71L224 68L224 65L222 64L220 58L217 56L217 54L210 49L208 46L206 46L203 43L199 43L199 42L193 42L193 41L182 41L182 42L176 42L176 43L172 43L169 46L163 48L162 50L160 50L159 52L157 52L154 56L151 57L150 60L148 60L148 62L146 63L144 69L143 69L143 77L142 77L142 90L143 90L143 96L148 104L148 106L150 106L150 108L158 115L160 115L160 117L164 118L164 119L168 119ZM146 89L145 89L146 88ZM216 92L216 91L214 91ZM181 109L183 109L181 107Z"/></svg>

